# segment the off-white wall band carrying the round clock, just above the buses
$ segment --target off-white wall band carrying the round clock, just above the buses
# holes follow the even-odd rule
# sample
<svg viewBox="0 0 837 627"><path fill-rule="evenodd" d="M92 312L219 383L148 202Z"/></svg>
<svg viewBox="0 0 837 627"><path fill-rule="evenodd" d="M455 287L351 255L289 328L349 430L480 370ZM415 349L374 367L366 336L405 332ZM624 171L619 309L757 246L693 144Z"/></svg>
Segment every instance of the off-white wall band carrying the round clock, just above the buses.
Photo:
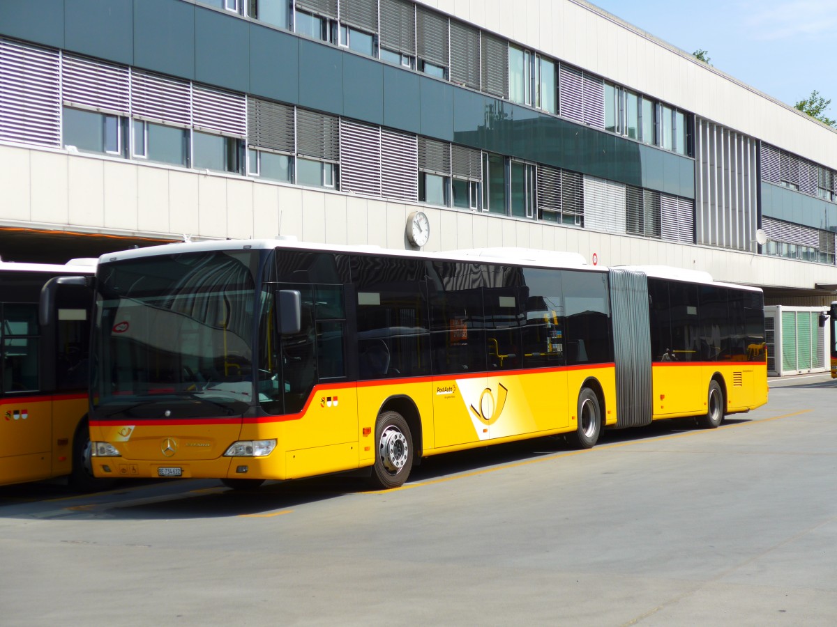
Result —
<svg viewBox="0 0 837 627"><path fill-rule="evenodd" d="M408 214L427 213L427 250L531 247L600 265L665 264L722 281L787 288L837 283L837 268L547 222L411 205L240 176L0 144L2 226L193 237L275 237L404 249Z"/></svg>

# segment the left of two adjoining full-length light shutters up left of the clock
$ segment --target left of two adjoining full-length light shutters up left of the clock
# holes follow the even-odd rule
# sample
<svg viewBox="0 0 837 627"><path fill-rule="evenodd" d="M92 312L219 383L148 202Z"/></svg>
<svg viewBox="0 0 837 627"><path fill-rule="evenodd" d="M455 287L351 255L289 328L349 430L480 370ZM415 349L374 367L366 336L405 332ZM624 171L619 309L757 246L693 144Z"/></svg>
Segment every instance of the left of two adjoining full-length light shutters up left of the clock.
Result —
<svg viewBox="0 0 837 627"><path fill-rule="evenodd" d="M381 129L340 120L340 189L381 196Z"/></svg>

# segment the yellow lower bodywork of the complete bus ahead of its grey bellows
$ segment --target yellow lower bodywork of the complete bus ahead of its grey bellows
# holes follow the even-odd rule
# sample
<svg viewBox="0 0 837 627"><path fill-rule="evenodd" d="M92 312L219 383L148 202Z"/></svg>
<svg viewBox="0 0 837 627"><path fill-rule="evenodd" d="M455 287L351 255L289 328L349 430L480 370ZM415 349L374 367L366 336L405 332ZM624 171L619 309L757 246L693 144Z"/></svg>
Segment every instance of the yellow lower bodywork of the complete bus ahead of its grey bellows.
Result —
<svg viewBox="0 0 837 627"><path fill-rule="evenodd" d="M598 391L605 423L615 425L614 364L317 385L299 414L245 418L240 425L225 419L93 422L92 440L123 451L123 457L93 457L93 467L97 477L157 477L167 466L181 468L180 477L312 477L372 466L378 411L394 397L415 406L416 447L432 456L575 431L583 385ZM270 456L223 456L234 441L274 439ZM247 472L238 472L240 466Z"/></svg>

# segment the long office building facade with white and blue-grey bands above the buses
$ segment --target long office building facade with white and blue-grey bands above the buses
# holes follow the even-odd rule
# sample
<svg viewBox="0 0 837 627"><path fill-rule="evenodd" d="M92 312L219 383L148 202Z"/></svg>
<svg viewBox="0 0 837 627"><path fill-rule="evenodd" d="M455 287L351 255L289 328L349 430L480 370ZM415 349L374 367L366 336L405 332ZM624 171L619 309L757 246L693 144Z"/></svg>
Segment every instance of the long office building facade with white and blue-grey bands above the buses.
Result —
<svg viewBox="0 0 837 627"><path fill-rule="evenodd" d="M837 132L582 0L0 4L8 258L48 260L51 232L73 256L403 249L418 210L427 250L666 264L819 305L835 171Z"/></svg>

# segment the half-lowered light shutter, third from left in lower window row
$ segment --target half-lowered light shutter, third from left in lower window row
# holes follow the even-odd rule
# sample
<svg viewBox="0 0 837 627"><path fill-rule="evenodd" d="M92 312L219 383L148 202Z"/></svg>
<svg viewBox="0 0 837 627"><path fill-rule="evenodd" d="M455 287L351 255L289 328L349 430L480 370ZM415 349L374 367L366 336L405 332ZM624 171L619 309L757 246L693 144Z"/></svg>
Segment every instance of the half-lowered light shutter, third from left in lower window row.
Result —
<svg viewBox="0 0 837 627"><path fill-rule="evenodd" d="M187 81L131 72L131 115L171 125L192 124L192 89Z"/></svg>

